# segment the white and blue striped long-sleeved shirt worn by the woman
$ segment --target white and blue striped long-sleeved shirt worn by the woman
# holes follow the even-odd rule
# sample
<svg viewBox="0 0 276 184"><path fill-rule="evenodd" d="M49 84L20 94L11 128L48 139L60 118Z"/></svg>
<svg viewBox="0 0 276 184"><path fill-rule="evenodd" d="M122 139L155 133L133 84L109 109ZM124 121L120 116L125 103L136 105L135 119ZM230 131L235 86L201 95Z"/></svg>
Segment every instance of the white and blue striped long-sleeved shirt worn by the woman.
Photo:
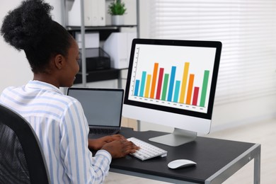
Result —
<svg viewBox="0 0 276 184"><path fill-rule="evenodd" d="M29 81L8 87L0 103L21 114L35 130L51 183L103 183L111 156L88 149L88 124L81 104L51 84Z"/></svg>

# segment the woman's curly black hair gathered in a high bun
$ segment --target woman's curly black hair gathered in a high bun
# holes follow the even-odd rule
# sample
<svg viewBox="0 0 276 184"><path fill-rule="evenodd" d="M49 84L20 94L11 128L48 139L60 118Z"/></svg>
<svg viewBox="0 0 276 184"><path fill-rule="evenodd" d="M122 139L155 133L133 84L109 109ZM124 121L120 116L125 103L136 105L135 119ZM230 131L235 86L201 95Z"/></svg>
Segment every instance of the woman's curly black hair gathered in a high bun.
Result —
<svg viewBox="0 0 276 184"><path fill-rule="evenodd" d="M52 6L43 0L26 0L4 18L1 35L16 50L24 50L34 73L45 72L51 57L67 57L71 35L52 20Z"/></svg>

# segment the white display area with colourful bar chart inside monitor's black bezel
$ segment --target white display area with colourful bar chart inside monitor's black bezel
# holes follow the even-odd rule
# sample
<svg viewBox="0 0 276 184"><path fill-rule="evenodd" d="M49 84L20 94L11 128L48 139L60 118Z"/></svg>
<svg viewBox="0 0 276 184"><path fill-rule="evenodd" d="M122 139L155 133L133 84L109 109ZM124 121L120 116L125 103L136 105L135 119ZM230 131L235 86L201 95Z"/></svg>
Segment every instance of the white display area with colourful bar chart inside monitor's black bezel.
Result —
<svg viewBox="0 0 276 184"><path fill-rule="evenodd" d="M197 49L163 45L155 50L145 45L136 47L132 100L206 112L214 54L209 54L210 48Z"/></svg>

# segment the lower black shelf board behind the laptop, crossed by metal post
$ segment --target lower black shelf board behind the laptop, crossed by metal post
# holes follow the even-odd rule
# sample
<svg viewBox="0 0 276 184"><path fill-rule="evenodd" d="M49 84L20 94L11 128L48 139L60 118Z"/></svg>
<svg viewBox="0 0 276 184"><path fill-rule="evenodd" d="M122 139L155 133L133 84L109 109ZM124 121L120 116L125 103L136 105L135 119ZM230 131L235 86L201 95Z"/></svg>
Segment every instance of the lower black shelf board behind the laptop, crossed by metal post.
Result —
<svg viewBox="0 0 276 184"><path fill-rule="evenodd" d="M106 81L112 79L119 79L120 69L103 69L86 72L86 82ZM82 73L76 74L74 84L82 83Z"/></svg>

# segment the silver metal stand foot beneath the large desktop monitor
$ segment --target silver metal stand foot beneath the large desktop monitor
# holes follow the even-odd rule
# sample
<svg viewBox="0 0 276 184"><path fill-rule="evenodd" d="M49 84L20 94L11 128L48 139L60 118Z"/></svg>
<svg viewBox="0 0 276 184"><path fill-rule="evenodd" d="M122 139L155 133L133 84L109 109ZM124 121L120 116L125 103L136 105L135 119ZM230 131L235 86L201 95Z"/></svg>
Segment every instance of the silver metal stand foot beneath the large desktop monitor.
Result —
<svg viewBox="0 0 276 184"><path fill-rule="evenodd" d="M159 137L153 137L149 140L151 142L157 142L160 144L166 144L168 146L180 146L188 142L192 142L197 137L197 132L191 132L188 130L182 130L175 128L173 133L162 135Z"/></svg>

